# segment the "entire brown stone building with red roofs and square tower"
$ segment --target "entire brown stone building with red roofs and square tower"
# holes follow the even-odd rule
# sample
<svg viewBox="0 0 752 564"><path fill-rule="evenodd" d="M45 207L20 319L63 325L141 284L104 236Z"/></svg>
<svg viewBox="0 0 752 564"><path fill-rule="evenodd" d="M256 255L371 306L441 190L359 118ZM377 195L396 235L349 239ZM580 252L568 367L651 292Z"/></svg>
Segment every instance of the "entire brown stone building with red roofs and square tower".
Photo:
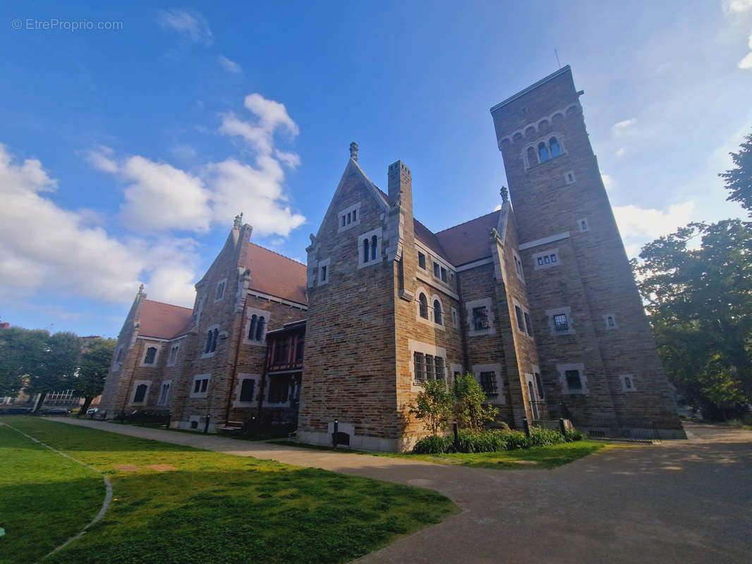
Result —
<svg viewBox="0 0 752 564"><path fill-rule="evenodd" d="M102 405L169 406L188 428L297 413L301 441L329 444L338 420L351 447L405 450L423 382L470 371L512 426L684 437L582 93L567 66L491 109L514 208L502 189L498 211L431 232L405 163L384 193L353 143L307 268L236 218L193 310L139 293Z"/></svg>

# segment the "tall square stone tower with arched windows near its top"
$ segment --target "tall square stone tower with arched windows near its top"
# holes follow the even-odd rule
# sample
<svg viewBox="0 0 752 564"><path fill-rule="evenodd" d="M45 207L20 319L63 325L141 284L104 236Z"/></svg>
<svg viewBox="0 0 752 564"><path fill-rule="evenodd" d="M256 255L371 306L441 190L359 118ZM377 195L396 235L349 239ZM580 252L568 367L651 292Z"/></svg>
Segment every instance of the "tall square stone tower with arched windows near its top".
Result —
<svg viewBox="0 0 752 564"><path fill-rule="evenodd" d="M491 108L549 407L596 434L683 438L582 94L566 66Z"/></svg>

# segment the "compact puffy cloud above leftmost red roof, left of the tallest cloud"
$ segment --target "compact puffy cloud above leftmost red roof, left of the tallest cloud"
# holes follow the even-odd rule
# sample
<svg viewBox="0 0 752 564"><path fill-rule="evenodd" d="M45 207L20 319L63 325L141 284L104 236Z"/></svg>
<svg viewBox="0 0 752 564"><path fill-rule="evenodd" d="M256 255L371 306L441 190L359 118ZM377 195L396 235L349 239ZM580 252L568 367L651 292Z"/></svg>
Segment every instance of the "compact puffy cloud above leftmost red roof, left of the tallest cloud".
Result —
<svg viewBox="0 0 752 564"><path fill-rule="evenodd" d="M123 174L132 183L120 212L131 229L209 229L209 193L199 177L143 156L128 159Z"/></svg>

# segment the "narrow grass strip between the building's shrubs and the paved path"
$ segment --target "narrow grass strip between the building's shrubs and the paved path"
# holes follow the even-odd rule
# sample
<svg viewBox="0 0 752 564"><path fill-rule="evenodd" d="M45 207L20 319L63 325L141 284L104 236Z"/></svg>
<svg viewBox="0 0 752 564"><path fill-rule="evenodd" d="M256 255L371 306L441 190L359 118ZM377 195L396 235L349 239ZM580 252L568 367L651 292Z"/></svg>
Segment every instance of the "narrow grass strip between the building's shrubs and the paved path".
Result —
<svg viewBox="0 0 752 564"><path fill-rule="evenodd" d="M313 448L317 450L332 450L329 447L313 444L302 444L295 441L269 441L274 444L285 444L291 447ZM575 441L572 443L554 444L551 447L532 447L517 450L503 450L496 453L450 453L450 454L413 454L413 453L371 453L362 450L337 449L339 453L369 454L374 456L394 456L412 460L425 460L438 464L456 464L474 466L475 468L496 468L502 470L520 470L523 468L541 469L556 468L569 464L577 459L614 445L599 441Z"/></svg>

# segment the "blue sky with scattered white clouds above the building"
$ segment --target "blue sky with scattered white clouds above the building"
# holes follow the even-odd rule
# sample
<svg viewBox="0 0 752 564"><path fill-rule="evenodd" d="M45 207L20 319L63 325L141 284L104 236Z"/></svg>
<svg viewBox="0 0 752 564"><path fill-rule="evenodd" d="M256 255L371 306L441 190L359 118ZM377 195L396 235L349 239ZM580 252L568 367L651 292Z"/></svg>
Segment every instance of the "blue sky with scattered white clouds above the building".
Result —
<svg viewBox="0 0 752 564"><path fill-rule="evenodd" d="M240 211L305 260L350 141L379 186L410 166L430 229L486 214L489 108L554 49L630 256L743 215L717 173L752 128L752 0L506 4L4 2L0 320L117 336L141 282L190 306Z"/></svg>

